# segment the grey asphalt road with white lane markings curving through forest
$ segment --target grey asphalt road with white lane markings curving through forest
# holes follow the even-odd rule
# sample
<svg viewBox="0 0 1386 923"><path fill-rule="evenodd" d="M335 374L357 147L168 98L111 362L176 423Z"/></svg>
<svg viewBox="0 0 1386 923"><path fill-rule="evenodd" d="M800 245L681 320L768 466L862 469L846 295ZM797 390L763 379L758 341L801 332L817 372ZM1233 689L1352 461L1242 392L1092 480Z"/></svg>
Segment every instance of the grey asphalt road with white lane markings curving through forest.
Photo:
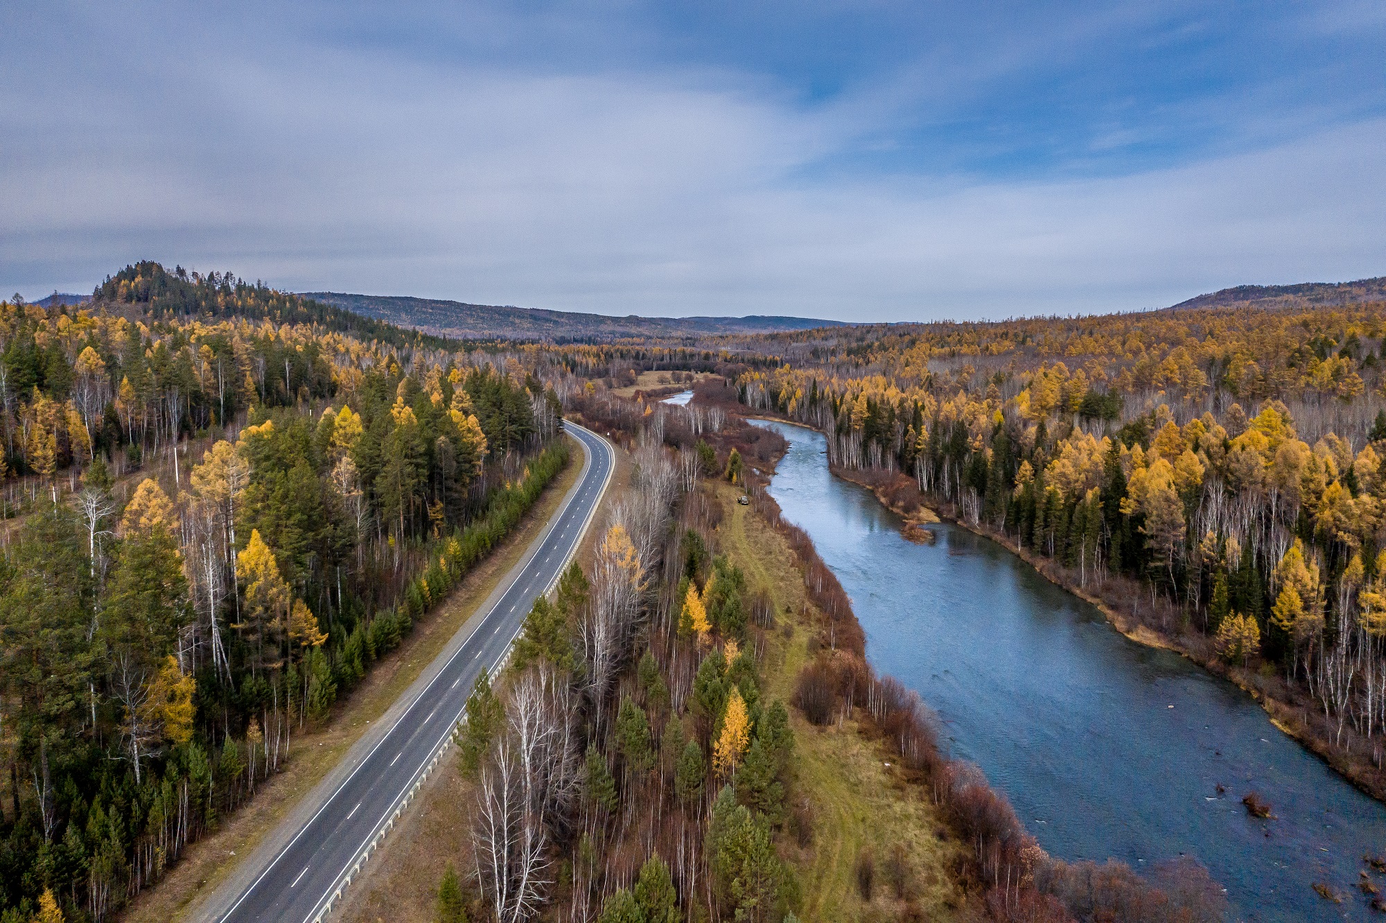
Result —
<svg viewBox="0 0 1386 923"><path fill-rule="evenodd" d="M574 423L565 428L581 441L585 459L547 531L482 603L480 619L467 621L378 728L208 898L198 919L313 923L365 865L446 748L477 675L505 658L535 597L557 581L596 513L615 457L593 432Z"/></svg>

